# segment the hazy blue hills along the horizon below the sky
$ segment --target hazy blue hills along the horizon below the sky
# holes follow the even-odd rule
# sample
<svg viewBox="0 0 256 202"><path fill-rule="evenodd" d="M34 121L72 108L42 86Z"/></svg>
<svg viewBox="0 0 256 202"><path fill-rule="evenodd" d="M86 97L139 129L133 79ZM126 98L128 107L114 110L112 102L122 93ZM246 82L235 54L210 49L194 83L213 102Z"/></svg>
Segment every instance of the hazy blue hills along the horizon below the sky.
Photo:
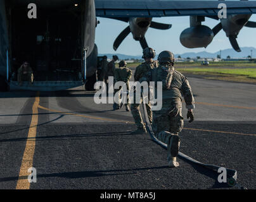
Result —
<svg viewBox="0 0 256 202"><path fill-rule="evenodd" d="M234 49L225 49L221 50L221 57L226 58L227 56L230 56L231 58L234 57L248 57L251 55L251 50L252 50L252 57L256 57L256 49L254 47L242 47L241 52L236 52ZM200 56L201 58L207 57L207 58L213 58L217 57L220 52L207 52L207 51L202 51L202 52L186 52L183 54L175 54L175 57L181 56L183 58L186 57L191 57L191 58L196 58L197 56ZM141 56L129 56L129 55L124 55L124 54L116 54L119 59L141 59ZM108 58L112 58L113 54L99 54L99 56L107 56Z"/></svg>

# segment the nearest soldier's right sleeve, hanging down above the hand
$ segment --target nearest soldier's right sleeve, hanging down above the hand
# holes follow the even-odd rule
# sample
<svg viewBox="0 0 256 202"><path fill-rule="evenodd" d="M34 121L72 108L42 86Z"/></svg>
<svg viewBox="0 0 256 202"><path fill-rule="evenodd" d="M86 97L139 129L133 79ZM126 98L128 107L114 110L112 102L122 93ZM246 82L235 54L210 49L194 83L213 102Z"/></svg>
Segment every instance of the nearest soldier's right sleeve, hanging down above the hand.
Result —
<svg viewBox="0 0 256 202"><path fill-rule="evenodd" d="M186 108L188 110L195 109L195 99L193 97L191 86L189 85L189 82L186 77L184 78L184 81L182 83L181 92L186 102Z"/></svg>

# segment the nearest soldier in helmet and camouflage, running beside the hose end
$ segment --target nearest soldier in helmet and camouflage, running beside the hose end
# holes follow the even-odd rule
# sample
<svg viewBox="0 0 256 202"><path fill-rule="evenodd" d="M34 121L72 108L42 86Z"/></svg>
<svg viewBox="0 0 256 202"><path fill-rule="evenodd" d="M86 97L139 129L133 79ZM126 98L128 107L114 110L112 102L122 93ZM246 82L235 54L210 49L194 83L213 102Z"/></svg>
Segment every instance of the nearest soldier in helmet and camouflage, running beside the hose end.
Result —
<svg viewBox="0 0 256 202"><path fill-rule="evenodd" d="M183 128L182 96L188 109L189 122L194 120L195 100L185 76L174 69L174 54L163 51L158 56L160 66L152 72L152 80L162 81L162 109L153 113L153 131L158 140L168 145L167 160L170 167L177 167L179 132ZM157 92L156 92L157 93Z"/></svg>

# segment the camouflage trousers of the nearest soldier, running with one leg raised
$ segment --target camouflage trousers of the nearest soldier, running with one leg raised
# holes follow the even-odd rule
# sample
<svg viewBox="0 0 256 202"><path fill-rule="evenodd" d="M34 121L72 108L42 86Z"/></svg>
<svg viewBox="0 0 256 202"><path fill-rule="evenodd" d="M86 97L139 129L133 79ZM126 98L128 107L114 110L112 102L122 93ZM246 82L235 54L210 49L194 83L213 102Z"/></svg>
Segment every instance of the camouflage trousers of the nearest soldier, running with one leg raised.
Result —
<svg viewBox="0 0 256 202"><path fill-rule="evenodd" d="M163 100L162 109L154 111L152 128L155 134L168 131L179 134L184 126L180 98Z"/></svg>

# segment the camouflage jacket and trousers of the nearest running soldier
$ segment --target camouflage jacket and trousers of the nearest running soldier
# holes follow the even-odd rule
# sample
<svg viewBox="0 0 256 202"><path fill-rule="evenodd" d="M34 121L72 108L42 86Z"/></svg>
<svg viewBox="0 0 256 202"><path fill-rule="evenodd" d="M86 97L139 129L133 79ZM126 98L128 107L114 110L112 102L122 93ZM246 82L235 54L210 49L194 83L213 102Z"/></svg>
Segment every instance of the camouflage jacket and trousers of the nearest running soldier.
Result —
<svg viewBox="0 0 256 202"><path fill-rule="evenodd" d="M185 76L173 67L159 66L157 80L163 82L162 109L154 111L153 131L169 131L178 134L183 128L182 95L188 109L194 109L194 98L189 82Z"/></svg>

